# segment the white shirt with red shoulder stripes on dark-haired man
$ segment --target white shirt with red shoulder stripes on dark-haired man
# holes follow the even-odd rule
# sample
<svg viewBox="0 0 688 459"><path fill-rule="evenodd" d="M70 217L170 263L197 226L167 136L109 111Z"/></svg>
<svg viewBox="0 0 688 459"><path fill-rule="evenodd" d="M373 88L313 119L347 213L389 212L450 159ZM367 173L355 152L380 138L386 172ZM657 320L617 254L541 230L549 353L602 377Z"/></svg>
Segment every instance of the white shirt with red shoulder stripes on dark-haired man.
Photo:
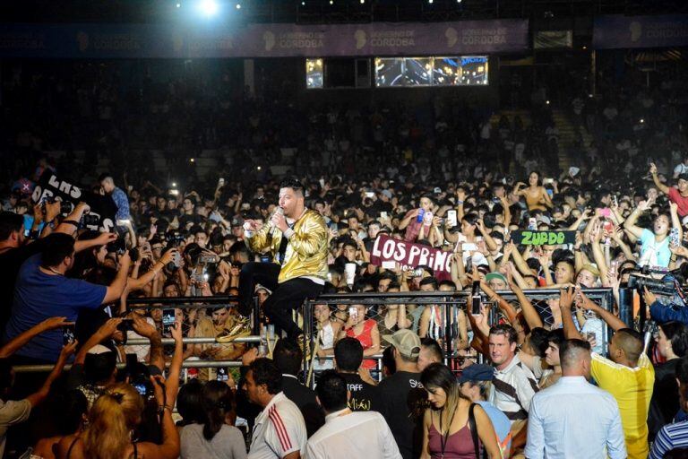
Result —
<svg viewBox="0 0 688 459"><path fill-rule="evenodd" d="M255 419L248 459L282 458L295 451L303 457L306 439L301 411L280 392Z"/></svg>

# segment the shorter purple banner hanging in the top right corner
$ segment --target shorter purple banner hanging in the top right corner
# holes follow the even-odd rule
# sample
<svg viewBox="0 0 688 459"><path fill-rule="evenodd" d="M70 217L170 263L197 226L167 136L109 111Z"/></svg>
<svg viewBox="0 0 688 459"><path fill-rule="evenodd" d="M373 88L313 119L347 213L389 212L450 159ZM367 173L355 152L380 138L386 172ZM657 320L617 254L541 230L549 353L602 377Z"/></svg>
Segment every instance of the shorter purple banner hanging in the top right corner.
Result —
<svg viewBox="0 0 688 459"><path fill-rule="evenodd" d="M597 49L688 46L688 14L598 16L592 46Z"/></svg>

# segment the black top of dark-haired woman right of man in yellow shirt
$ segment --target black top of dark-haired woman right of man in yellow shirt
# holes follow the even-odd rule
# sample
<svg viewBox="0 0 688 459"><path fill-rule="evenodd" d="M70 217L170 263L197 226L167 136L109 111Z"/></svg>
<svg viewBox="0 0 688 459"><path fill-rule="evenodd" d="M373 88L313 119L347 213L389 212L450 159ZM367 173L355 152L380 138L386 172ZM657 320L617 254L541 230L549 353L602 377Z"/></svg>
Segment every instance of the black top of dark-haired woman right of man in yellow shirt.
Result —
<svg viewBox="0 0 688 459"><path fill-rule="evenodd" d="M649 402L649 439L654 438L662 427L671 424L680 408L676 384L678 361L679 359L669 360L655 367L655 386Z"/></svg>

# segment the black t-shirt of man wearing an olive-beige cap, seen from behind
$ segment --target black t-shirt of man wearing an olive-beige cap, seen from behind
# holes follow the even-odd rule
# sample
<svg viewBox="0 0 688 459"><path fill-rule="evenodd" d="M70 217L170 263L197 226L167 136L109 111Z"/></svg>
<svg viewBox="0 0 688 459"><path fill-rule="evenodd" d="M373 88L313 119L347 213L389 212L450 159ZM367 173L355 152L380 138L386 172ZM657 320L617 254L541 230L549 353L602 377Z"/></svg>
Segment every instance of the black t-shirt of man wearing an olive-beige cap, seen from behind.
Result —
<svg viewBox="0 0 688 459"><path fill-rule="evenodd" d="M415 407L423 403L426 391L420 383L420 373L398 371L383 379L377 386L383 400L383 416L399 446L404 459L418 457L421 445L417 441L417 422L422 420L422 411ZM414 417L417 414L421 419Z"/></svg>

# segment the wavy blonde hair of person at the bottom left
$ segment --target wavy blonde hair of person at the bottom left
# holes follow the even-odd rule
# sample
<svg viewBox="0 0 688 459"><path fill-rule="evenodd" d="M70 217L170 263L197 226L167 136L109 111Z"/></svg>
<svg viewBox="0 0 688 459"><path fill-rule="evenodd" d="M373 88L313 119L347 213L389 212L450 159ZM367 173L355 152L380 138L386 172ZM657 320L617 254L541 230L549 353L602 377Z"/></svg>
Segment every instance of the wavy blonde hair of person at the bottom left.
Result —
<svg viewBox="0 0 688 459"><path fill-rule="evenodd" d="M143 400L128 384L107 387L89 412L83 436L84 455L91 459L122 459L131 444L130 432L141 422Z"/></svg>

